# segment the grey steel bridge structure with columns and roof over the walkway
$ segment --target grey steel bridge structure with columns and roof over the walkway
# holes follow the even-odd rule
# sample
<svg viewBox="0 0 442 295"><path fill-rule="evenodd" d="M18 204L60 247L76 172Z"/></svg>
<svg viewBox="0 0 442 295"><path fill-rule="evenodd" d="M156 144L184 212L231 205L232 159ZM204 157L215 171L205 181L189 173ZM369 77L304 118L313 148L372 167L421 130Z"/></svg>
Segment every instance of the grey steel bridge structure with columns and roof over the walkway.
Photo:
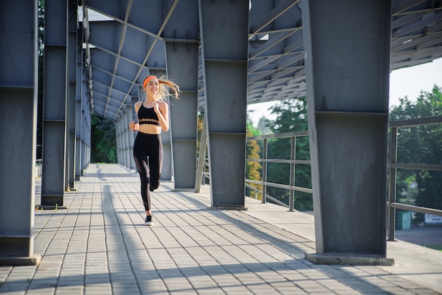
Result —
<svg viewBox="0 0 442 295"><path fill-rule="evenodd" d="M1 255L37 263L38 8L25 0L0 8ZM441 1L47 0L44 9L40 205L61 207L76 189L90 164L92 113L115 124L118 161L134 168L133 103L145 97L145 76L167 75L181 97L169 102L162 176L175 191L195 188L203 109L210 207L246 210L247 104L306 95L316 234L309 259L391 263L388 78L442 56Z"/></svg>

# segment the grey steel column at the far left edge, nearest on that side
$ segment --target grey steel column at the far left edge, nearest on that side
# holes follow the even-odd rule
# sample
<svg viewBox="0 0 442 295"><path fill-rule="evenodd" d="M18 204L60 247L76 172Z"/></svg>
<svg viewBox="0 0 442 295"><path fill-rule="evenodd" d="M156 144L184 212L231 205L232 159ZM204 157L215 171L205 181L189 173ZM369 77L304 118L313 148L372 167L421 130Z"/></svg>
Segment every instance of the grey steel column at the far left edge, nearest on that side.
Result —
<svg viewBox="0 0 442 295"><path fill-rule="evenodd" d="M0 1L0 265L37 265L37 1Z"/></svg>

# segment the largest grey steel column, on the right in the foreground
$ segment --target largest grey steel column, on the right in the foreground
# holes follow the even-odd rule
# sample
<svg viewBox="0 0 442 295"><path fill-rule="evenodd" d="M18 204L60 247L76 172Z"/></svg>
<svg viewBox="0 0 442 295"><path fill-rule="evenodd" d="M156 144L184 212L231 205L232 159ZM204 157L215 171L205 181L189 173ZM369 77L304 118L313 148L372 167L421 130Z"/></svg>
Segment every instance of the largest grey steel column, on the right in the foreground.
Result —
<svg viewBox="0 0 442 295"><path fill-rule="evenodd" d="M316 254L386 258L391 1L302 1ZM345 9L342 9L345 7Z"/></svg>

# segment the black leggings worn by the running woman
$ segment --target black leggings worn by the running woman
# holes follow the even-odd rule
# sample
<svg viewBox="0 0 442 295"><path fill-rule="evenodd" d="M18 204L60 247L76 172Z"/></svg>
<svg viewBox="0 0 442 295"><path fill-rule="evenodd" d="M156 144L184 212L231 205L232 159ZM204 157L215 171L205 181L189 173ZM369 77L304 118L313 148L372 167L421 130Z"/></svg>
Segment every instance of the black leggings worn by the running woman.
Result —
<svg viewBox="0 0 442 295"><path fill-rule="evenodd" d="M162 143L160 134L138 132L133 143L133 159L141 179L141 198L144 208L150 210L150 191L160 186Z"/></svg>

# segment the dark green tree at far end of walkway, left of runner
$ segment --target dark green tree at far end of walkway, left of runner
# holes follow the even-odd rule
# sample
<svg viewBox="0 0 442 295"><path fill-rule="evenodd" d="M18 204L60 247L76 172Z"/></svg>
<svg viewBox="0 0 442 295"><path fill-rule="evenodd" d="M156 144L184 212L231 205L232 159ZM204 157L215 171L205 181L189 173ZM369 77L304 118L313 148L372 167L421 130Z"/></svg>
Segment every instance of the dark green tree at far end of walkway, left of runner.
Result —
<svg viewBox="0 0 442 295"><path fill-rule="evenodd" d="M91 133L90 162L117 163L115 125L107 119L92 114Z"/></svg>

